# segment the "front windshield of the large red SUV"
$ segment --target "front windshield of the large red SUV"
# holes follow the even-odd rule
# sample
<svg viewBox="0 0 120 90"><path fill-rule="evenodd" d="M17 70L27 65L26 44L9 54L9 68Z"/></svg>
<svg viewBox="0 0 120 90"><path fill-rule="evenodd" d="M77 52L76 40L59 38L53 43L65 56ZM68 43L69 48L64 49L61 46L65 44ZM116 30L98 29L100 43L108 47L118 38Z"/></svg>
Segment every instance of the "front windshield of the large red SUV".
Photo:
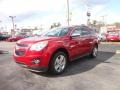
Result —
<svg viewBox="0 0 120 90"><path fill-rule="evenodd" d="M65 36L67 33L68 33L68 28L55 28L43 33L42 36L59 37L59 36Z"/></svg>

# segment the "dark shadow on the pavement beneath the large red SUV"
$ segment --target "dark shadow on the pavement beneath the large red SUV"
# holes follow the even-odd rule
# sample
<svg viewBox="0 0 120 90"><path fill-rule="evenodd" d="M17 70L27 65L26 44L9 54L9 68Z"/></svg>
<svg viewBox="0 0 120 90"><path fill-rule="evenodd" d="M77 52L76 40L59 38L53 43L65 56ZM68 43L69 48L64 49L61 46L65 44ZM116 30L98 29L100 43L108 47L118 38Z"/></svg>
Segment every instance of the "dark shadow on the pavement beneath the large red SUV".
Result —
<svg viewBox="0 0 120 90"><path fill-rule="evenodd" d="M89 58L88 56L72 61L68 64L67 69L61 75L52 75L50 73L35 73L45 77L64 77L70 75L76 75L83 72L87 72L101 63L109 63L109 60L115 53L99 51L97 58Z"/></svg>

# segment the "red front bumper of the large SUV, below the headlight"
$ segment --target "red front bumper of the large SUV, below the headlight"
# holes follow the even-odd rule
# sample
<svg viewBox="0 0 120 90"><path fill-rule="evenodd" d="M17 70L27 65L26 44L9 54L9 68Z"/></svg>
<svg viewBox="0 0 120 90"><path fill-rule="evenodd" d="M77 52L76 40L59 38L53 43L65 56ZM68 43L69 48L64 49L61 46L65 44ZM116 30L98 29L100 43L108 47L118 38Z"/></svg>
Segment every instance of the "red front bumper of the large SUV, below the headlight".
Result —
<svg viewBox="0 0 120 90"><path fill-rule="evenodd" d="M50 54L49 53L43 53L43 54L29 54L24 56L17 56L15 53L13 55L14 60L16 63L18 63L20 66L27 68L30 71L35 72L46 72L49 66L50 61ZM34 63L34 59L39 59L39 63Z"/></svg>

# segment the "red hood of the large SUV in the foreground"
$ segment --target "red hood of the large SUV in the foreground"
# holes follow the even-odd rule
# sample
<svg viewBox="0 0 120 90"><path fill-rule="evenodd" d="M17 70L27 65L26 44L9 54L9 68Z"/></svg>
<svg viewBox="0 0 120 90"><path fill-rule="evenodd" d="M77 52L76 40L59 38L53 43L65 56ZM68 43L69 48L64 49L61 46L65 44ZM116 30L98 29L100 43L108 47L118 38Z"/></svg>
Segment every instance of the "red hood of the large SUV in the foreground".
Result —
<svg viewBox="0 0 120 90"><path fill-rule="evenodd" d="M49 41L49 40L53 40L56 39L57 37L29 37L29 38L25 38L22 40L19 40L17 43L22 43L22 44L33 44L33 43L37 43L40 41Z"/></svg>

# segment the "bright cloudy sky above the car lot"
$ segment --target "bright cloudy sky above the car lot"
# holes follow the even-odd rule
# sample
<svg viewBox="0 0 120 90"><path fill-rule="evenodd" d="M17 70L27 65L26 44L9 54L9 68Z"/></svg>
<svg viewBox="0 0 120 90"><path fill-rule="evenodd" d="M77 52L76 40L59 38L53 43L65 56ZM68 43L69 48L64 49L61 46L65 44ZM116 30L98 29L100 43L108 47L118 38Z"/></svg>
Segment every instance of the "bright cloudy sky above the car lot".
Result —
<svg viewBox="0 0 120 90"><path fill-rule="evenodd" d="M89 7L91 20L111 24L120 22L120 0L69 0L70 25L86 24ZM15 16L17 27L43 26L60 22L67 25L67 0L0 0L0 27L12 28L9 16ZM102 18L104 16L104 19Z"/></svg>

